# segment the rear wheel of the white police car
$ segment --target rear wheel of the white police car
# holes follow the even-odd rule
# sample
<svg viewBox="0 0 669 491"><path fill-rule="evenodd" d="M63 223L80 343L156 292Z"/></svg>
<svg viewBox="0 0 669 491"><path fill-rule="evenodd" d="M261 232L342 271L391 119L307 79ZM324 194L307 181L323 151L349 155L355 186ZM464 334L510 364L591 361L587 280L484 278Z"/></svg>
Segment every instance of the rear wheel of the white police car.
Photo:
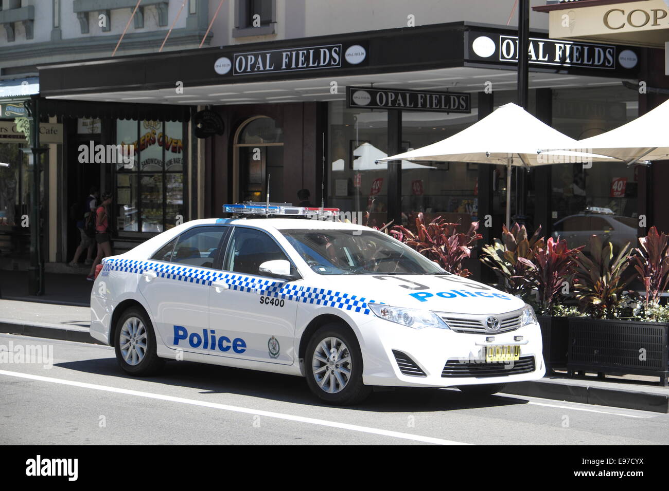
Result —
<svg viewBox="0 0 669 491"><path fill-rule="evenodd" d="M156 353L156 335L149 316L138 307L130 307L116 321L114 351L118 365L137 377L155 375L165 365Z"/></svg>

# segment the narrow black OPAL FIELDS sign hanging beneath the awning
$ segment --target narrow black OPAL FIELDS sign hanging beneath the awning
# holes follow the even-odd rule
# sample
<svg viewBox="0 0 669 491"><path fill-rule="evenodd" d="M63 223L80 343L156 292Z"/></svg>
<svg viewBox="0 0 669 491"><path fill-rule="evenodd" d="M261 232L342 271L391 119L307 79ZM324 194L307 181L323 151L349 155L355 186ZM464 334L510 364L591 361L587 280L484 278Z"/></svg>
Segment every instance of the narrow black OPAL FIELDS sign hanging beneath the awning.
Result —
<svg viewBox="0 0 669 491"><path fill-rule="evenodd" d="M347 107L401 109L405 111L472 112L470 94L464 92L425 92L369 87L347 87Z"/></svg>

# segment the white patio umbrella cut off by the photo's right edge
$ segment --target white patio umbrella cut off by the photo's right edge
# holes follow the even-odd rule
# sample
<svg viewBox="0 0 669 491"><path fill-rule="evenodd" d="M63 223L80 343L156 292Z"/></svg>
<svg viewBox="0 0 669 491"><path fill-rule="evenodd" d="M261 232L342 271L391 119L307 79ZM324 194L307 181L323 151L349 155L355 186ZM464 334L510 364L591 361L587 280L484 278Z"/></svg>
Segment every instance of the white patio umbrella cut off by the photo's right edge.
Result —
<svg viewBox="0 0 669 491"><path fill-rule="evenodd" d="M669 101L623 126L579 140L587 152L607 155L628 164L639 160L669 159Z"/></svg>

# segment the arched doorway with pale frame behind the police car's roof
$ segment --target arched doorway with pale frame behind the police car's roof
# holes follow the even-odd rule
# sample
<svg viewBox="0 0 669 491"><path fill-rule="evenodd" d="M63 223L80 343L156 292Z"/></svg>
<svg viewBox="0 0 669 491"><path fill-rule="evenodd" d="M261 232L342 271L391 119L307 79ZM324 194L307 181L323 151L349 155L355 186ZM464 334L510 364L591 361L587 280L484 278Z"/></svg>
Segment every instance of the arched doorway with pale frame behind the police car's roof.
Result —
<svg viewBox="0 0 669 491"><path fill-rule="evenodd" d="M268 116L254 116L237 128L233 155L235 202L284 202L284 134Z"/></svg>

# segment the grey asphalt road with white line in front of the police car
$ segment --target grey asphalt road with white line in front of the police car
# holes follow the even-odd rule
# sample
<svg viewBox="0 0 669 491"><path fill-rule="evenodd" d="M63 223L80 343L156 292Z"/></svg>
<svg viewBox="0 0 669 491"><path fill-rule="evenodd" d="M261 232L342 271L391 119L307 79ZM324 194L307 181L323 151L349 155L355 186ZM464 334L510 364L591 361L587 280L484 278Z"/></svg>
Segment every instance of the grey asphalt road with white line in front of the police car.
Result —
<svg viewBox="0 0 669 491"><path fill-rule="evenodd" d="M376 392L328 407L300 377L170 361L120 370L110 347L0 334L0 349L53 346L53 366L0 363L6 444L586 444L669 442L669 415L456 389Z"/></svg>

